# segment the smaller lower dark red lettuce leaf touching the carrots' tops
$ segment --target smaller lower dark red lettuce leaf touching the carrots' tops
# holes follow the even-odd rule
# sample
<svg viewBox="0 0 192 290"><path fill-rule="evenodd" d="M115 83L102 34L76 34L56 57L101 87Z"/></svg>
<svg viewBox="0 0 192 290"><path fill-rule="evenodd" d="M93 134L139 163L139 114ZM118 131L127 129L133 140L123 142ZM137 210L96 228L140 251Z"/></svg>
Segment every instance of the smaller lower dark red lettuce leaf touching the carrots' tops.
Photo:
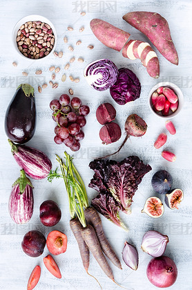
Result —
<svg viewBox="0 0 192 290"><path fill-rule="evenodd" d="M120 220L119 205L116 203L115 199L113 199L111 194L108 194L108 192L98 194L95 199L92 199L91 205L108 220L128 231L128 228L126 228L124 223Z"/></svg>

